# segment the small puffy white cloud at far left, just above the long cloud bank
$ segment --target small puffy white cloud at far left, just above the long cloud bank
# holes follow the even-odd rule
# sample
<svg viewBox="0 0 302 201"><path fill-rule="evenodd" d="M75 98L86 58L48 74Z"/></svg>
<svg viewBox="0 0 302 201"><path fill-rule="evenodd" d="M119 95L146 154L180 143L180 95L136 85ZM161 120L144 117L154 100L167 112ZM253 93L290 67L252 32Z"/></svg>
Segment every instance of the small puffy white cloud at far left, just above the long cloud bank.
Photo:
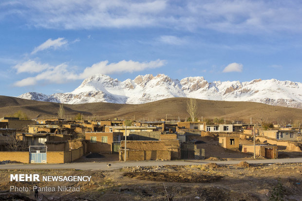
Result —
<svg viewBox="0 0 302 201"><path fill-rule="evenodd" d="M17 64L13 67L14 69L17 69L17 73L38 73L45 69L50 68L50 65L48 64L41 64L39 62L28 60L23 63Z"/></svg>

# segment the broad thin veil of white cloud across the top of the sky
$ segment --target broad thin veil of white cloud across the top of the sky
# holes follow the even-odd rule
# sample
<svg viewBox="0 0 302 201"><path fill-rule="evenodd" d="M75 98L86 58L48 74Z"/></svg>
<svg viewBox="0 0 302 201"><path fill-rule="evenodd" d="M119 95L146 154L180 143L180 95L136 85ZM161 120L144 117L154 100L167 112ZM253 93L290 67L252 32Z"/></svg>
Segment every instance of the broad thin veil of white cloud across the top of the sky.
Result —
<svg viewBox="0 0 302 201"><path fill-rule="evenodd" d="M302 23L297 18L301 2L296 0L19 0L3 5L2 11L29 25L55 29L153 26L224 33L302 32L297 26Z"/></svg>

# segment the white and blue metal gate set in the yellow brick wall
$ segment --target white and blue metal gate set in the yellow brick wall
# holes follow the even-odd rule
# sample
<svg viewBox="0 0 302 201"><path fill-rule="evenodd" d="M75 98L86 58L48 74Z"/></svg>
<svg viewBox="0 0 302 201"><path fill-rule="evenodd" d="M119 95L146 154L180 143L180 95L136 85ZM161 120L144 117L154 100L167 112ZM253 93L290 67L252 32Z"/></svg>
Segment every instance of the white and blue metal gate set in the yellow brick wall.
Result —
<svg viewBox="0 0 302 201"><path fill-rule="evenodd" d="M46 164L47 146L29 146L29 161L31 164Z"/></svg>

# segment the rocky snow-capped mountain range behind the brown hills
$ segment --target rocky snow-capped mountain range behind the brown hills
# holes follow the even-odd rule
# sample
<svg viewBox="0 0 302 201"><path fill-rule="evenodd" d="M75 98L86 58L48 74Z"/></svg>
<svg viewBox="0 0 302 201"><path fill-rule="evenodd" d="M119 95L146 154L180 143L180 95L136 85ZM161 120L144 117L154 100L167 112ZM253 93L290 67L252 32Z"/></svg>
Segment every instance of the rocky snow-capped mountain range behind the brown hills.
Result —
<svg viewBox="0 0 302 201"><path fill-rule="evenodd" d="M138 75L134 80L127 79L121 82L108 75L95 74L69 93L45 95L28 92L18 97L67 104L93 102L141 104L165 98L190 97L252 101L302 109L302 83L276 79L208 82L204 77L186 77L179 81L165 74Z"/></svg>

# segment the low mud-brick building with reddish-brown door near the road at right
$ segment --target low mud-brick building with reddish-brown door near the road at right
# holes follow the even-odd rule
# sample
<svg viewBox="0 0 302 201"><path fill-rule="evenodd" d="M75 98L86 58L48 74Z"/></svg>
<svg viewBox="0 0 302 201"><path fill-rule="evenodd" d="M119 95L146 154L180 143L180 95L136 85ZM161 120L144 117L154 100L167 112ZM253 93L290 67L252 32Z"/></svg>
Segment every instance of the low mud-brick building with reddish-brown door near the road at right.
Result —
<svg viewBox="0 0 302 201"><path fill-rule="evenodd" d="M254 154L254 145L242 145L242 152ZM255 145L255 155L269 159L278 158L278 146L276 145Z"/></svg>

